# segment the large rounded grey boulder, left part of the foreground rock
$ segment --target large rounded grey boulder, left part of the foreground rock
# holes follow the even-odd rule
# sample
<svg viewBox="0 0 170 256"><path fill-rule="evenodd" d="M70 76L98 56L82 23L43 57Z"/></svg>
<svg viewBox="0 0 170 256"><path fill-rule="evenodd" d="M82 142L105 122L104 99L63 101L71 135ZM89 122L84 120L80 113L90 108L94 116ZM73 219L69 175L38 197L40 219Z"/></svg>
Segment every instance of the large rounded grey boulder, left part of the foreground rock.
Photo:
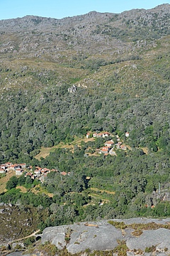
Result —
<svg viewBox="0 0 170 256"><path fill-rule="evenodd" d="M50 241L59 249L66 246L71 253L83 252L88 248L111 250L120 239L123 239L121 231L106 221L45 228L42 233L42 242Z"/></svg>

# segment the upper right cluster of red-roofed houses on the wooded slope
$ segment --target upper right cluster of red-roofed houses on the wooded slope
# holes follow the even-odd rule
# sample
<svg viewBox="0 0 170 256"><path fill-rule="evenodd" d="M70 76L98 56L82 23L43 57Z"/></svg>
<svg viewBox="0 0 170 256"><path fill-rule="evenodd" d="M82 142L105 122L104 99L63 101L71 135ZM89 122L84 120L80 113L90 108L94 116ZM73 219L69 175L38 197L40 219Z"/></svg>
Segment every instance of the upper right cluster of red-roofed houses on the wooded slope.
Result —
<svg viewBox="0 0 170 256"><path fill-rule="evenodd" d="M129 132L125 133L125 137L128 138L129 137ZM86 134L86 138L89 139L89 137L94 137L94 138L105 138L108 136L112 136L109 132L101 132L101 133L97 133L94 132L94 134L91 134L91 132L88 132ZM117 143L115 144L113 142L113 140L109 140L106 141L104 146L101 149L97 149L96 151L98 152L98 154L111 154L111 155L116 155L115 151L113 149L123 149L123 150L127 150L127 146L125 146L125 144L123 144L123 142L120 142L120 137L118 135L116 135L116 139L117 139Z"/></svg>

